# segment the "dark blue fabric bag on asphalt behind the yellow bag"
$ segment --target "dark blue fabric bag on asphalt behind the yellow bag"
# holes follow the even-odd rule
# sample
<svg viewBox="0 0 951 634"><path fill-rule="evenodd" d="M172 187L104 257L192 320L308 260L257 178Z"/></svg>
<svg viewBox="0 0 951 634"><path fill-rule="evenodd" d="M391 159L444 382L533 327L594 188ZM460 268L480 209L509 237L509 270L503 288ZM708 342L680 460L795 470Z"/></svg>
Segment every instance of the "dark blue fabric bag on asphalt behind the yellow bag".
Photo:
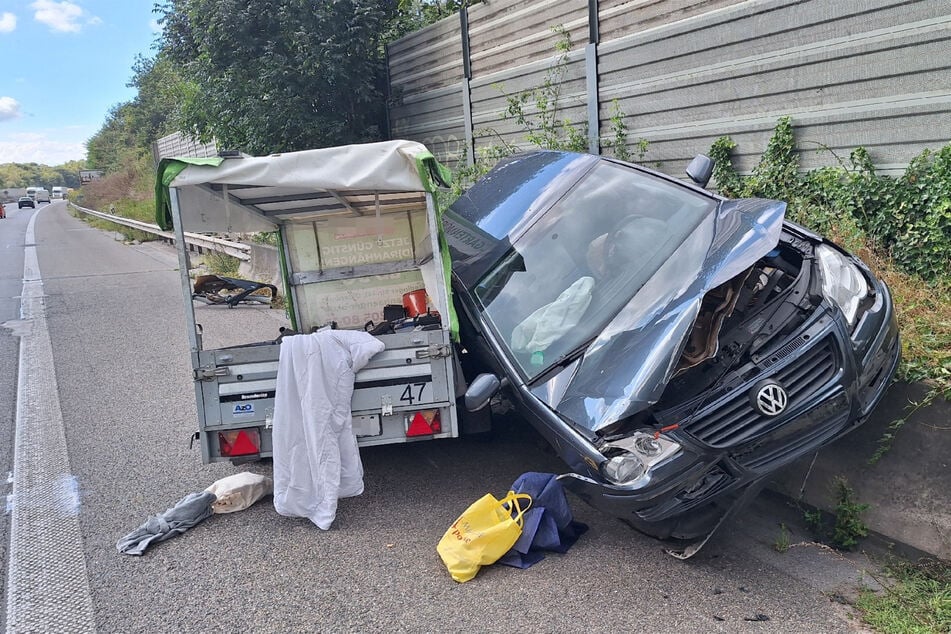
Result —
<svg viewBox="0 0 951 634"><path fill-rule="evenodd" d="M545 558L544 551L565 553L588 530L576 522L565 490L553 473L523 473L512 484L516 493L532 496L532 508L523 517L522 535L498 563L528 568Z"/></svg>

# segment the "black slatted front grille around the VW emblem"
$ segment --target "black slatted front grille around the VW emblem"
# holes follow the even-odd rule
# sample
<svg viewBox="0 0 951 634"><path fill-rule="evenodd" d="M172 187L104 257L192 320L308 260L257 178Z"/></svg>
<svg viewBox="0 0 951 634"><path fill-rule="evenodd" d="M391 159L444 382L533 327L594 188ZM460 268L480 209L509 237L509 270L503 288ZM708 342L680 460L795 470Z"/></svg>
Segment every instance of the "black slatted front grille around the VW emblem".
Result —
<svg viewBox="0 0 951 634"><path fill-rule="evenodd" d="M800 352L771 377L786 389L788 408L828 383L837 371L835 349L830 338ZM758 377L762 379L766 377ZM697 413L681 427L700 442L716 448L733 447L781 424L785 417L767 417L750 402L747 390L737 391Z"/></svg>

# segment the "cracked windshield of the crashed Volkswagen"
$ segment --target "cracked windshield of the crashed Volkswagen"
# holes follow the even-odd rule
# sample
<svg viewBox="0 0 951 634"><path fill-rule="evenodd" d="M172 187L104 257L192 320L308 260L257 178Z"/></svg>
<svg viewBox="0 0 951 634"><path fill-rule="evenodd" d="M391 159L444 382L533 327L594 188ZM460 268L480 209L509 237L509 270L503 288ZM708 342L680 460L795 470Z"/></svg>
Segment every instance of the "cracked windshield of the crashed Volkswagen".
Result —
<svg viewBox="0 0 951 634"><path fill-rule="evenodd" d="M602 162L512 244L475 296L531 379L592 340L715 206Z"/></svg>

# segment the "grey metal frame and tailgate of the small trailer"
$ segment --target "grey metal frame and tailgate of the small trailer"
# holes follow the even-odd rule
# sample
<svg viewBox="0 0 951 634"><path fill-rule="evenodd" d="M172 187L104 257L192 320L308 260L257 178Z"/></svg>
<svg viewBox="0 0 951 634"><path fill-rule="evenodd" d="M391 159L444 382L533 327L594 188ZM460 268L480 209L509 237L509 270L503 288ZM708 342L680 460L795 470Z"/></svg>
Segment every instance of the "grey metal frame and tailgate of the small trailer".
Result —
<svg viewBox="0 0 951 634"><path fill-rule="evenodd" d="M202 185L201 189L210 196L219 197L225 205L257 210L249 202L252 199L242 200L240 195L235 194L236 186ZM360 199L363 209L372 209L372 215L363 214L355 204L350 204L346 194L329 192L330 195L326 196L326 193L320 194L320 205L301 206L301 211L296 215L293 209L285 209L281 218L275 215L269 217L280 230L283 249L282 276L293 307L290 317L294 328L308 333L317 330L321 325L317 323L319 316L312 314L311 310L315 305L314 289L319 291L333 283L347 283L356 279L372 286L376 280L391 279L400 273L412 274L424 265L437 272L426 279L426 290L432 305L438 308L441 315L451 314L450 292L442 274L445 271L445 263L437 229L440 226L439 218L431 192L356 192L354 195ZM302 197L300 192L284 196L291 205L299 204ZM267 200L273 203L276 198L271 196ZM404 215L410 226L414 219L418 222L424 215L429 234L428 249L424 256L416 253L414 245L411 259L338 267L320 265L315 270L295 270L295 263L306 259L298 257L304 246L299 244L299 240L295 241L292 235L295 229L299 230L311 224L316 236L318 231L315 223L333 217L363 216L366 222L370 222L367 218L382 222L381 219L387 213L388 199L390 202L395 201L395 207L400 207L399 211L392 212L393 217ZM371 200L372 202L369 202ZM188 273L189 254L185 243L182 201L174 184L168 188L168 203L178 252L198 408L199 429L194 438L199 441L202 461L209 463L230 460L240 463L269 457L280 338L221 349L203 348L202 329L197 323L192 281ZM307 228L307 231L309 230L310 228ZM302 235L306 235L307 231ZM318 253L320 249L318 244ZM315 254L308 255L312 257ZM359 446L454 438L459 435L456 401L464 391L464 386L457 383L457 376L461 380L461 373L457 372L448 321L449 319L444 318L442 324L432 330L417 328L377 335L386 344L386 349L373 357L370 363L357 373L354 385L352 414L354 433ZM433 412L438 412L439 424L431 426L432 433L425 433L424 430L424 433L419 435L410 434L411 428L415 429L416 433L419 432L418 425L414 424L417 414L431 417ZM427 423L432 422L428 418L425 420ZM223 443L233 442L235 434L241 431L250 434L259 451L239 457L223 455Z"/></svg>

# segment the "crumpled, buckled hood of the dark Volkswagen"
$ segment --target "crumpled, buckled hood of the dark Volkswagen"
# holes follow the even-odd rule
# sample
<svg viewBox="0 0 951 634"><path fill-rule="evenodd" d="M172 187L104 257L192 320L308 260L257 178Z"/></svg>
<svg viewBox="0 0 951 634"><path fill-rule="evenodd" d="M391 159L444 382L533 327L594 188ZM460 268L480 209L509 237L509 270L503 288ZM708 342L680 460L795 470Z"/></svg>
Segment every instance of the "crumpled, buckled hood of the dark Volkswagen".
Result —
<svg viewBox="0 0 951 634"><path fill-rule="evenodd" d="M656 403L704 295L779 243L786 203L725 201L608 323L584 355L533 393L596 432Z"/></svg>

